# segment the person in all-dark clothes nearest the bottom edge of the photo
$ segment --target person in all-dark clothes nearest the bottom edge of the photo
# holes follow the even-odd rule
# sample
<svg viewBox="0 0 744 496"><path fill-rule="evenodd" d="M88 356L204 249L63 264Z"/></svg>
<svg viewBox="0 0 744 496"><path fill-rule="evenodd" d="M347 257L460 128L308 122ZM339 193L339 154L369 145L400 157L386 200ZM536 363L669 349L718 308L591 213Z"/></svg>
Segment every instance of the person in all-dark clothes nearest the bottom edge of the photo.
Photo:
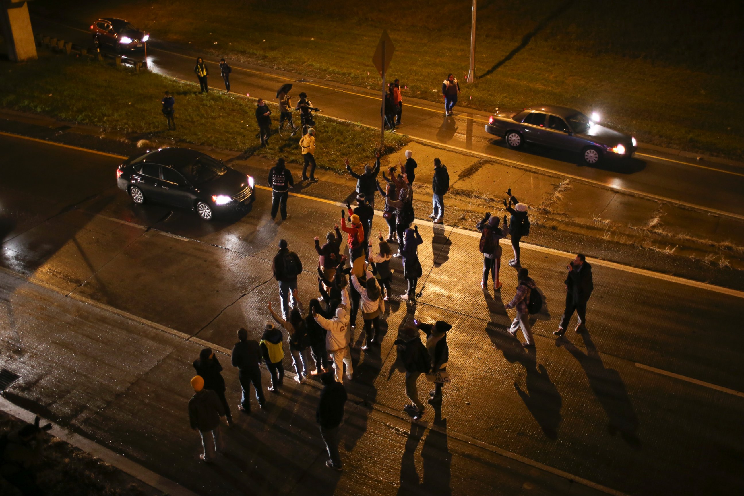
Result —
<svg viewBox="0 0 744 496"><path fill-rule="evenodd" d="M344 419L344 403L346 403L346 389L344 384L333 379L332 372L321 375L323 390L315 412L315 421L321 426L321 437L326 444L328 468L341 471L341 455L339 454L339 430Z"/></svg>

